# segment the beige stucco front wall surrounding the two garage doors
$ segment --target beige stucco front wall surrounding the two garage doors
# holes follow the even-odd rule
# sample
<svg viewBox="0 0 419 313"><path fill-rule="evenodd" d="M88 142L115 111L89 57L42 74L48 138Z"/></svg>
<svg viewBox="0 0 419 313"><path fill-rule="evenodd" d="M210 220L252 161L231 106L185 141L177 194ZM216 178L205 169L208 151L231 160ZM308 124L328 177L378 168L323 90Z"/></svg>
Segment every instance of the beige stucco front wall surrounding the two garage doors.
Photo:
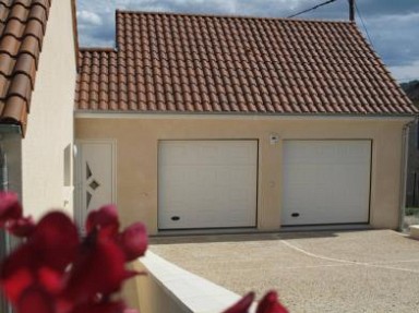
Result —
<svg viewBox="0 0 419 313"><path fill-rule="evenodd" d="M143 220L157 230L157 146L159 140L259 140L258 228L280 228L284 140L372 140L370 224L397 228L403 151L403 119L331 119L217 116L141 116L75 120L75 137L117 143L117 204L123 221ZM107 118L104 118L107 117ZM129 116L128 116L129 117ZM270 134L278 134L277 144Z"/></svg>

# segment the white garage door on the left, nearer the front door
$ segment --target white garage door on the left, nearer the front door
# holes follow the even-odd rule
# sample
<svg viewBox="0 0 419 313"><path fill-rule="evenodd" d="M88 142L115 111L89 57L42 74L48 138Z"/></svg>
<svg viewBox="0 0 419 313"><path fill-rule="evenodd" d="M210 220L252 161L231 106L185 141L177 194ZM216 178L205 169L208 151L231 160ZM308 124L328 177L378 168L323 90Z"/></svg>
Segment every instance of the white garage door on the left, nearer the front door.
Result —
<svg viewBox="0 0 419 313"><path fill-rule="evenodd" d="M158 227L255 227L258 141L161 141Z"/></svg>

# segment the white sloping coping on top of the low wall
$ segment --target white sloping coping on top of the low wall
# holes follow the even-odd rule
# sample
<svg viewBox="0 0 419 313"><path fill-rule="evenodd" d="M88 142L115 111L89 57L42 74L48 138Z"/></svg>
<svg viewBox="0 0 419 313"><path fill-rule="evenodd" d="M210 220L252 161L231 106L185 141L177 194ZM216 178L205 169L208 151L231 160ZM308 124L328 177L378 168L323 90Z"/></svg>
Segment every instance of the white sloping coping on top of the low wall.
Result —
<svg viewBox="0 0 419 313"><path fill-rule="evenodd" d="M184 312L216 313L223 312L242 297L205 278L192 274L147 251L139 260L147 274L163 287ZM255 312L255 304L250 312Z"/></svg>

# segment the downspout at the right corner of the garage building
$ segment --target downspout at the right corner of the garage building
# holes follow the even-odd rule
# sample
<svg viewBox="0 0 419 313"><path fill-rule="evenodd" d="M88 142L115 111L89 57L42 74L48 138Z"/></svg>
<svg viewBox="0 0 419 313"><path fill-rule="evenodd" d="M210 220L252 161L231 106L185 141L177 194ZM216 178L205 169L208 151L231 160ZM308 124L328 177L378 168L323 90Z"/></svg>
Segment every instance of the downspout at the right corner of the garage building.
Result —
<svg viewBox="0 0 419 313"><path fill-rule="evenodd" d="M400 214L398 220L398 230L403 231L403 225L405 219L405 205L406 205L406 190L407 190L407 164L409 157L409 128L410 125L418 122L418 118L415 118L414 121L408 122L403 127L403 156L402 156L402 167L400 167Z"/></svg>

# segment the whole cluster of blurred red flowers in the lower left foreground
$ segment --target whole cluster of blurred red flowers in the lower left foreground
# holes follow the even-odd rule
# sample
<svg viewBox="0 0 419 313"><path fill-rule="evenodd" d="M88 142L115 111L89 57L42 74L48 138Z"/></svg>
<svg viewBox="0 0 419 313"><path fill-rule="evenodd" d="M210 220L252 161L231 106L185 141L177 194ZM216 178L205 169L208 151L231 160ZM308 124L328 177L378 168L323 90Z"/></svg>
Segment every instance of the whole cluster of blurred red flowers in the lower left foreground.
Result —
<svg viewBox="0 0 419 313"><path fill-rule="evenodd" d="M27 237L1 264L0 285L17 313L135 313L115 300L122 282L137 273L125 262L143 255L145 228L134 224L119 233L115 206L92 212L87 237L61 212L35 225L22 216L15 194L0 194L0 227ZM137 312L136 312L137 313Z"/></svg>

